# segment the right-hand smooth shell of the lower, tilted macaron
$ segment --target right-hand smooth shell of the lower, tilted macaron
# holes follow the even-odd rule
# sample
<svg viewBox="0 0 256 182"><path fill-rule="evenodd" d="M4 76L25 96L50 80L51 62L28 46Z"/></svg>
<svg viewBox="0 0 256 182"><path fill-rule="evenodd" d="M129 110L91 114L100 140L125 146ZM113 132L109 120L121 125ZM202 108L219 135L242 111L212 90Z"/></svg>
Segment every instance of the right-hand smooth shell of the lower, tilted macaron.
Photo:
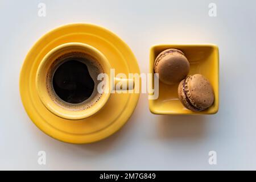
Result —
<svg viewBox="0 0 256 182"><path fill-rule="evenodd" d="M214 102L212 85L203 75L196 74L187 77L185 90L191 104L200 110L207 109Z"/></svg>

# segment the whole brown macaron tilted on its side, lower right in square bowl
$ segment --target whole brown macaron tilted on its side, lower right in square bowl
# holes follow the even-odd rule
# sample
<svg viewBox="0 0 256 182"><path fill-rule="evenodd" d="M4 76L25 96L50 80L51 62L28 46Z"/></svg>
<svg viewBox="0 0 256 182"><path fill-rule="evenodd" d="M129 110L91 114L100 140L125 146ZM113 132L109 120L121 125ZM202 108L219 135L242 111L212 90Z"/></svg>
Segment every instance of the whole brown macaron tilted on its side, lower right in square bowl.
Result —
<svg viewBox="0 0 256 182"><path fill-rule="evenodd" d="M212 85L203 75L189 75L178 87L181 103L192 111L202 111L213 105L214 93Z"/></svg>

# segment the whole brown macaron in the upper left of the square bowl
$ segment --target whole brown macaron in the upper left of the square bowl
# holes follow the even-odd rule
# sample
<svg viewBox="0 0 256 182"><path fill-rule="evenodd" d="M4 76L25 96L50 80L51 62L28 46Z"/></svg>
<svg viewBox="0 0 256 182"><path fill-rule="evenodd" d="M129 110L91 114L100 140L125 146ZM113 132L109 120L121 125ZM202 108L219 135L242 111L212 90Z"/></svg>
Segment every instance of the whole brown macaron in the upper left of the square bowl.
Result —
<svg viewBox="0 0 256 182"><path fill-rule="evenodd" d="M189 62L179 49L166 49L159 53L154 62L154 71L164 84L180 82L188 75Z"/></svg>

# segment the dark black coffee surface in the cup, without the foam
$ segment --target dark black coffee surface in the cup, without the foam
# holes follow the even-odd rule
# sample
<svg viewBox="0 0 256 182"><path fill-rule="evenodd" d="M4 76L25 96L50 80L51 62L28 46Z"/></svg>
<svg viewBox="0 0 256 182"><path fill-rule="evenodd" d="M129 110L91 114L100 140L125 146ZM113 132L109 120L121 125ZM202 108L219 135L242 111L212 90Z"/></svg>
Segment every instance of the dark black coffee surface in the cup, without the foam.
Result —
<svg viewBox="0 0 256 182"><path fill-rule="evenodd" d="M52 85L57 96L71 104L87 100L94 90L88 67L75 59L65 61L56 69Z"/></svg>

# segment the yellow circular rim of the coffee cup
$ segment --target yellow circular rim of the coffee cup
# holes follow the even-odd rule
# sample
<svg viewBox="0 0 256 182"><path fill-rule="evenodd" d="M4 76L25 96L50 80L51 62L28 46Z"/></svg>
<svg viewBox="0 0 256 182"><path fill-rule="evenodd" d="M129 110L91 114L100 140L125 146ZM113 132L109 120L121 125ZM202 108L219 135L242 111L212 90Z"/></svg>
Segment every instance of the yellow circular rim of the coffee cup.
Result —
<svg viewBox="0 0 256 182"><path fill-rule="evenodd" d="M77 120L77 119L84 119L88 118L100 111L102 107L108 102L109 97L110 97L110 86L106 86L105 89L108 89L107 92L102 93L102 96L100 98L100 102L97 102L94 104L92 107L89 109L81 110L81 111L72 111L72 110L67 110L63 109L60 106L58 106L55 102L52 101L52 99L49 97L48 93L46 92L46 84L43 84L42 81L46 80L46 64L48 61L51 61L51 56L55 55L55 53L63 50L67 51L67 49L72 49L72 48L82 48L84 50L90 50L90 52L95 53L100 59L97 59L104 71L107 75L110 75L110 63L108 59L96 48L93 46L90 46L85 43L64 43L61 44L49 51L42 59L42 61L39 64L39 67L36 71L36 91L38 92L38 96L43 103L43 105L51 111L51 113L57 115L58 117L64 118L64 119L72 119L72 120ZM65 52L67 53L67 52ZM88 53L88 52L86 52ZM53 63L53 62L52 62ZM50 64L52 64L50 63ZM108 81L109 82L109 81Z"/></svg>

